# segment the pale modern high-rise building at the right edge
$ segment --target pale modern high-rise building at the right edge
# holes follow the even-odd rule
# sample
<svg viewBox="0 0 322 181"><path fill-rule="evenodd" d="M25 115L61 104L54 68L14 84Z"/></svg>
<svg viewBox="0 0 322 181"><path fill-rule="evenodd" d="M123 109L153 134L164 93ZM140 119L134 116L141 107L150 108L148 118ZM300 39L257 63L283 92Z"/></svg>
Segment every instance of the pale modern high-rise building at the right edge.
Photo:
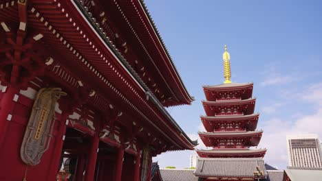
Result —
<svg viewBox="0 0 322 181"><path fill-rule="evenodd" d="M286 140L290 167L322 167L317 134L288 135Z"/></svg>

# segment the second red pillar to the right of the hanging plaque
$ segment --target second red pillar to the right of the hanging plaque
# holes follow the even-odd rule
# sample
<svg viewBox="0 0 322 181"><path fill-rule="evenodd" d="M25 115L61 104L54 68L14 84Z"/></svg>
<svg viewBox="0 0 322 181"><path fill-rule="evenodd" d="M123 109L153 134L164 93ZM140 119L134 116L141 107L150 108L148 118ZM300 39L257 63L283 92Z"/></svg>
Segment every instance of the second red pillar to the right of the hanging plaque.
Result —
<svg viewBox="0 0 322 181"><path fill-rule="evenodd" d="M89 147L87 166L85 172L85 181L93 181L95 168L96 168L96 158L98 151L98 144L100 143L100 138L98 137L98 132L92 138L91 147Z"/></svg>

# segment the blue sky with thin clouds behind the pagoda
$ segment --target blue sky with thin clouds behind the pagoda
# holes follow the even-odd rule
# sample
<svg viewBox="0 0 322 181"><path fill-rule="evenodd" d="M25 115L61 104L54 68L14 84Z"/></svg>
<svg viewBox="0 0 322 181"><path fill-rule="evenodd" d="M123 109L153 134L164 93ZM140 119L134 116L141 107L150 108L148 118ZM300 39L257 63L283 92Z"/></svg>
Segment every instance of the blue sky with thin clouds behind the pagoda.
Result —
<svg viewBox="0 0 322 181"><path fill-rule="evenodd" d="M286 134L322 138L322 1L145 1L189 93L192 106L169 108L191 138L202 129L202 85L221 84L228 45L233 82L254 82L259 147L268 164L288 164ZM202 145L200 145L202 147ZM154 158L189 167L193 151Z"/></svg>

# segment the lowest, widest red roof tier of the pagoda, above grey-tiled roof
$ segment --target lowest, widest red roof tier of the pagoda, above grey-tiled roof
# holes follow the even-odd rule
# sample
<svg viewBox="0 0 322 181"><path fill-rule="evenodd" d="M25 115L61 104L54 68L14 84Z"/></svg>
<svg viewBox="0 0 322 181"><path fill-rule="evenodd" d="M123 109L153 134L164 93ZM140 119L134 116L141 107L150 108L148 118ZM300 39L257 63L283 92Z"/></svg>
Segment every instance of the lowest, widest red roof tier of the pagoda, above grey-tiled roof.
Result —
<svg viewBox="0 0 322 181"><path fill-rule="evenodd" d="M263 158L267 149L197 149L197 154L202 158Z"/></svg>

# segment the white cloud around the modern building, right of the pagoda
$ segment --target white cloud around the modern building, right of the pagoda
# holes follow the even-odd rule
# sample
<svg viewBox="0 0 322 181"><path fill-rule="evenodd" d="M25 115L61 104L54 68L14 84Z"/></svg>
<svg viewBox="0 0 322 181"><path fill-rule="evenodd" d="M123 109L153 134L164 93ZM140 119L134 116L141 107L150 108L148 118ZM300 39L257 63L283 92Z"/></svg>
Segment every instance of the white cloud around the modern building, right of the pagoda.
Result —
<svg viewBox="0 0 322 181"><path fill-rule="evenodd" d="M265 160L272 165L288 164L286 135L288 134L319 134L322 138L322 83L310 86L299 97L312 104L313 114L296 114L291 120L271 119L263 123L264 134L259 147L268 148ZM303 111L305 112L305 111ZM283 169L283 168L280 168Z"/></svg>

